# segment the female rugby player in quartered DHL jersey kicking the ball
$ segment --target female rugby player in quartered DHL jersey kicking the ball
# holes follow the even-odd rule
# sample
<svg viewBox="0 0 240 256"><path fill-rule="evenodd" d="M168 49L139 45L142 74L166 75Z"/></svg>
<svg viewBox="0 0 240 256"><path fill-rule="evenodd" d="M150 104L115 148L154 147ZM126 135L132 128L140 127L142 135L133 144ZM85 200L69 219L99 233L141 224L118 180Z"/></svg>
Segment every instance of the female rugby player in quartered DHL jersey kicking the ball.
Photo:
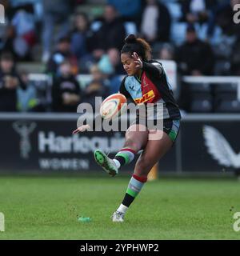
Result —
<svg viewBox="0 0 240 256"><path fill-rule="evenodd" d="M142 38L130 34L125 39L121 51L121 61L126 70L119 93L133 101L136 105L150 104L153 111L146 111L145 116L137 114L136 120L126 130L126 141L114 159L109 158L101 150L95 150L96 162L108 174L118 174L121 166L134 160L135 154L142 150L134 167L125 197L118 210L112 215L113 222L123 222L126 210L139 194L147 181L147 174L164 154L173 146L180 125L180 111L174 101L172 90L167 82L166 73L160 62L150 60L150 45ZM153 104L154 103L154 104ZM161 110L158 109L162 106ZM147 126L146 120L162 121L162 128ZM88 130L89 125L83 125L74 133ZM152 137L151 137L152 136ZM156 139L157 138L157 139Z"/></svg>

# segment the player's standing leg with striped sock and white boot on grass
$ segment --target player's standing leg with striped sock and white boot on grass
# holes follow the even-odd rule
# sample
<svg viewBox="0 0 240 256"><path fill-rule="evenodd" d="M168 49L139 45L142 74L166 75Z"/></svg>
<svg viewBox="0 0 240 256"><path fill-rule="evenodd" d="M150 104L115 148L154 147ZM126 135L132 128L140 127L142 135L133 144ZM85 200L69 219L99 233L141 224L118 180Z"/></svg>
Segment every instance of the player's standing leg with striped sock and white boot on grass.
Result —
<svg viewBox="0 0 240 256"><path fill-rule="evenodd" d="M138 162L134 168L134 174L130 179L122 204L112 216L113 222L123 222L126 210L128 210L131 203L134 202L134 199L146 183L147 174L150 172L154 164L158 162L158 160L162 158L162 156L166 154L172 146L173 142L170 137L162 130L150 131L149 136L152 135L151 133L153 132L159 139L149 140L146 144L146 148L138 158Z"/></svg>

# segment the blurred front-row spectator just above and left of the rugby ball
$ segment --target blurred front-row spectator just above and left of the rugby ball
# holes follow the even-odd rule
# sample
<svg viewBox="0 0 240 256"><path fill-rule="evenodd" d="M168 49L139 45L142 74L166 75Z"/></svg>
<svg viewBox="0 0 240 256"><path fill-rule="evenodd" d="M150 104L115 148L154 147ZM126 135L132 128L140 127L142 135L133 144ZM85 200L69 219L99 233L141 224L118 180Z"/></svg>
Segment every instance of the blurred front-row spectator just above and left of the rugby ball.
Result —
<svg viewBox="0 0 240 256"><path fill-rule="evenodd" d="M105 75L99 70L97 65L91 66L90 74L92 81L86 86L84 102L95 106L95 97L106 98L109 95Z"/></svg>

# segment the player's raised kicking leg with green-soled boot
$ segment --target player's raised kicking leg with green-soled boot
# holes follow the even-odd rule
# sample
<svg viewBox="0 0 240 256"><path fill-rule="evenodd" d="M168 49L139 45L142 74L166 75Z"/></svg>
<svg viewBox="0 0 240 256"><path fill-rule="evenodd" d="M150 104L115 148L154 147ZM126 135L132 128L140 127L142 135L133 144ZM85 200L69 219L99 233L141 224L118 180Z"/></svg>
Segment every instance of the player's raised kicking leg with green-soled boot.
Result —
<svg viewBox="0 0 240 256"><path fill-rule="evenodd" d="M106 173L114 176L118 174L121 166L129 164L134 160L134 156L146 145L148 130L142 125L133 125L126 130L126 142L114 159L109 158L102 150L94 151L94 158L98 165L102 166Z"/></svg>

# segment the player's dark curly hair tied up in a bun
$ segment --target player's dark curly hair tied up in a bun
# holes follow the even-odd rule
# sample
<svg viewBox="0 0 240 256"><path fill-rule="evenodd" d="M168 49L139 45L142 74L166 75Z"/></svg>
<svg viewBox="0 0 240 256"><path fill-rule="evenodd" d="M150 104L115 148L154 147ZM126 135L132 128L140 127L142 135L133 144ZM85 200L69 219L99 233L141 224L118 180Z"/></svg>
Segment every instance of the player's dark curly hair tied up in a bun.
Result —
<svg viewBox="0 0 240 256"><path fill-rule="evenodd" d="M138 56L142 57L143 61L150 60L151 47L144 39L136 38L134 34L130 34L125 38L124 42L125 44L122 47L121 54L134 54L136 52Z"/></svg>

